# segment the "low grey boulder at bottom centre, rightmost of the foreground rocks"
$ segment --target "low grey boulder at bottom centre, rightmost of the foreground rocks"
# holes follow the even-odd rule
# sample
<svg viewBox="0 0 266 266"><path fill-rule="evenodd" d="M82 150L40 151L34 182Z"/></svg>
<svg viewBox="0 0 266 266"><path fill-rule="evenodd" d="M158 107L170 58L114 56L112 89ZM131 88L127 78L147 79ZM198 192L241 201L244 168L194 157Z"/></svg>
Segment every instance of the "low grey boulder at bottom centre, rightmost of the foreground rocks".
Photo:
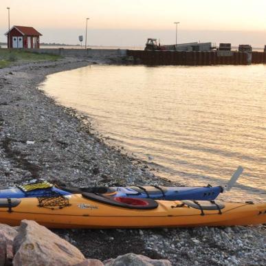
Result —
<svg viewBox="0 0 266 266"><path fill-rule="evenodd" d="M110 258L103 263L104 266L171 266L168 260L153 260L152 258L133 253L118 256L117 258Z"/></svg>

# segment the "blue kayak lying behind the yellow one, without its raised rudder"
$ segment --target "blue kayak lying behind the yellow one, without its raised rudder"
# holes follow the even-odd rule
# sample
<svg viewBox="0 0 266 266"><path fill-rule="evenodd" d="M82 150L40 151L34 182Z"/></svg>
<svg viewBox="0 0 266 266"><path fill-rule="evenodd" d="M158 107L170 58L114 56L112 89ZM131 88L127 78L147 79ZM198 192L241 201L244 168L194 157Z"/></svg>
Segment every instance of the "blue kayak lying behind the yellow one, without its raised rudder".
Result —
<svg viewBox="0 0 266 266"><path fill-rule="evenodd" d="M43 185L43 186L42 186ZM83 192L110 195L113 197L134 197L166 200L212 200L223 192L221 186L206 187L164 187L164 186L129 186L129 187L89 187L71 188L43 183L27 184L0 190L0 199L24 197L52 197L52 195L82 194Z"/></svg>

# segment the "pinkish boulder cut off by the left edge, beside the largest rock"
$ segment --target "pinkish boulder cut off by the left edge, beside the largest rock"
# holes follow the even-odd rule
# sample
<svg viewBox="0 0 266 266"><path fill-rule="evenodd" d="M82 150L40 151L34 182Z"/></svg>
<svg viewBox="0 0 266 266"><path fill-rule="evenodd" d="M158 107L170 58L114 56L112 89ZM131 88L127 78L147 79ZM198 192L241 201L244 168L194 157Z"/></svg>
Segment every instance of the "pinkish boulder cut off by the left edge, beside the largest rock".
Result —
<svg viewBox="0 0 266 266"><path fill-rule="evenodd" d="M0 266L12 265L13 241L17 233L16 228L0 224Z"/></svg>

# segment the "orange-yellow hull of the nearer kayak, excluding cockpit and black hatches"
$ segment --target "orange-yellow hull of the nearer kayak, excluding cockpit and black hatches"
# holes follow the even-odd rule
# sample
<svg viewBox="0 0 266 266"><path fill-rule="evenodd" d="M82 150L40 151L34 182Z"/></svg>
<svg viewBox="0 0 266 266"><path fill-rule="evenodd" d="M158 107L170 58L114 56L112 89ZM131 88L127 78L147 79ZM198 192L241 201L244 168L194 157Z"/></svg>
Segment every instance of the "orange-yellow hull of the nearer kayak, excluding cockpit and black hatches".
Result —
<svg viewBox="0 0 266 266"><path fill-rule="evenodd" d="M19 225L21 220L28 219L47 228L176 228L266 223L266 203L224 203L221 212L202 212L181 201L157 201L152 210L138 210L111 206L82 195L67 198L69 206L54 209L40 207L36 198L21 199L18 206L0 208L0 223Z"/></svg>

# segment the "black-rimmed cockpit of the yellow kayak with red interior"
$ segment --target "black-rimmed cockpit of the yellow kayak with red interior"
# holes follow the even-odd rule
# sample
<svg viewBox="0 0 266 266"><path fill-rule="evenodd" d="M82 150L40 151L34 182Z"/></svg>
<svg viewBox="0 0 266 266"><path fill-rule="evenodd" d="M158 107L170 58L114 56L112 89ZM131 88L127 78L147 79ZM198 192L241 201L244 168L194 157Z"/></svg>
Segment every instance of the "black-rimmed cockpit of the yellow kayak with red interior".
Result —
<svg viewBox="0 0 266 266"><path fill-rule="evenodd" d="M83 192L82 197L97 201L110 206L137 209L137 210L153 210L158 207L158 203L153 199L135 199L135 198L121 198L98 195L94 193Z"/></svg>

